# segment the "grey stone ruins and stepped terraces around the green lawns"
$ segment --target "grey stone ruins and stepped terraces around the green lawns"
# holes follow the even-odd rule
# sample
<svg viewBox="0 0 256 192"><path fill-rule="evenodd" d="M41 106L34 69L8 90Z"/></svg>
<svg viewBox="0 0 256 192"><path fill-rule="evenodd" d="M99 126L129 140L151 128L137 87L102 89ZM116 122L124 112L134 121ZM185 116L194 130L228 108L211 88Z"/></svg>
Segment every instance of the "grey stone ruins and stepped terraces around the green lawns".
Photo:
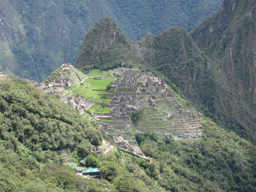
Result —
<svg viewBox="0 0 256 192"><path fill-rule="evenodd" d="M66 72L71 70L80 82L88 78L79 75L77 69L70 64L63 64L60 69ZM168 88L164 80L150 72L142 72L138 68L119 68L111 76L115 76L116 80L111 83L111 89L104 93L104 96L111 96L112 99L109 104L104 105L112 109L108 114L94 113L96 116L87 112L88 108L95 104L94 101L86 99L86 96L79 96L78 93L74 96L73 93L65 96L72 90L62 92L68 83L63 81L63 75L60 79L51 79L52 82L48 82L48 85L30 83L47 94L60 95L60 100L72 105L81 114L86 113L97 124L102 125L107 134L113 137L115 135L116 138L122 136L124 140L129 140L132 144L136 144L136 141L131 129L138 132L165 131L175 136L176 139L200 136L203 127L198 118L201 114L185 106L182 100ZM104 81L105 76L95 78ZM84 88L86 88L85 85ZM98 104L102 105L102 103ZM134 125L131 122L131 113L140 109L144 111L142 120Z"/></svg>

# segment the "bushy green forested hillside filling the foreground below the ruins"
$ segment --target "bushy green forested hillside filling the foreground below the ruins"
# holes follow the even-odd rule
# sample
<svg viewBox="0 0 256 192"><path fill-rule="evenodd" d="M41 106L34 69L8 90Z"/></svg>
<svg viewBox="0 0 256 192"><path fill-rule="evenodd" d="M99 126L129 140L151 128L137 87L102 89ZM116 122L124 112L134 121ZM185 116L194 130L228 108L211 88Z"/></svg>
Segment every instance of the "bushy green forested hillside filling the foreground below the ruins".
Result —
<svg viewBox="0 0 256 192"><path fill-rule="evenodd" d="M183 192L255 191L256 149L234 132L202 119L202 138L173 140L136 133L145 159L111 151L95 153L98 128L78 111L23 79L0 81L1 191ZM103 179L83 178L53 149L68 147Z"/></svg>

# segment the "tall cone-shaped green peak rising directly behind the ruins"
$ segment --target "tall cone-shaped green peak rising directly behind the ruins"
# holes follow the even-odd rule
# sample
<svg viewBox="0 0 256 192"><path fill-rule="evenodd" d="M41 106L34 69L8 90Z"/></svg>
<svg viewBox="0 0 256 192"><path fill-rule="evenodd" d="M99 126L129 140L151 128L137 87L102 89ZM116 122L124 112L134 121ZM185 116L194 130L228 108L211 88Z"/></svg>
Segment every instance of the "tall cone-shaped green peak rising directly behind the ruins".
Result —
<svg viewBox="0 0 256 192"><path fill-rule="evenodd" d="M130 50L131 44L112 18L104 17L86 34L75 67L106 70L120 67L122 62L140 63Z"/></svg>

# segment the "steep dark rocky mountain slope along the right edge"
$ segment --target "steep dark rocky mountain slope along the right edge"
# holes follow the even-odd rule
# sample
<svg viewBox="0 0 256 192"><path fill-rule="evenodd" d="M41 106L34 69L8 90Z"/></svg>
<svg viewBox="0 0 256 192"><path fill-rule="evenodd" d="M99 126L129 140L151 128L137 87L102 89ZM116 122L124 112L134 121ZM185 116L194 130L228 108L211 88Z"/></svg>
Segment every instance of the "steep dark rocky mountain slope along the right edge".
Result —
<svg viewBox="0 0 256 192"><path fill-rule="evenodd" d="M227 96L216 116L255 137L256 3L225 0L219 12L191 32L196 44L218 65ZM220 108L222 108L222 112ZM235 125L235 126L234 126Z"/></svg>

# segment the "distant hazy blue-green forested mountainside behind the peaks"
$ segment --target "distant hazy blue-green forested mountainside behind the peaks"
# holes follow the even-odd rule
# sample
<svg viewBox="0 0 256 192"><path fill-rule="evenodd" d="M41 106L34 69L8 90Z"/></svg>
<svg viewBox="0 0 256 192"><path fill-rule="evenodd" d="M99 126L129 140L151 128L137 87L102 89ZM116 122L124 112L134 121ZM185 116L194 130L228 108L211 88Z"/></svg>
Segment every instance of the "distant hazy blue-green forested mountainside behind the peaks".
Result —
<svg viewBox="0 0 256 192"><path fill-rule="evenodd" d="M44 81L60 64L73 64L85 34L110 16L132 41L170 27L190 31L221 0L1 0L0 71Z"/></svg>

